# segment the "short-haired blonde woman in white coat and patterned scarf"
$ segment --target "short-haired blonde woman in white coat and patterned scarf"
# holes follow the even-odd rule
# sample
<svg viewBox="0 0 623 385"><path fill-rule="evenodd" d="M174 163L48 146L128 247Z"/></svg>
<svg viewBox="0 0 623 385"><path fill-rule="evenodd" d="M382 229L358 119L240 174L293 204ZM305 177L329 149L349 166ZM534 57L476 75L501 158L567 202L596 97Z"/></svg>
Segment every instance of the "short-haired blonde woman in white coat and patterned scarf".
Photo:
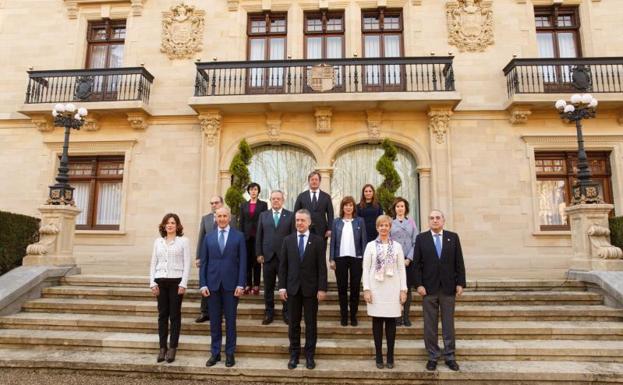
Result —
<svg viewBox="0 0 623 385"><path fill-rule="evenodd" d="M383 326L387 338L387 368L394 368L396 318L407 299L405 256L400 243L392 241L389 233L392 218L381 215L376 219L379 236L368 243L363 254L363 297L368 315L372 317L372 334L376 351L376 367L383 364Z"/></svg>

